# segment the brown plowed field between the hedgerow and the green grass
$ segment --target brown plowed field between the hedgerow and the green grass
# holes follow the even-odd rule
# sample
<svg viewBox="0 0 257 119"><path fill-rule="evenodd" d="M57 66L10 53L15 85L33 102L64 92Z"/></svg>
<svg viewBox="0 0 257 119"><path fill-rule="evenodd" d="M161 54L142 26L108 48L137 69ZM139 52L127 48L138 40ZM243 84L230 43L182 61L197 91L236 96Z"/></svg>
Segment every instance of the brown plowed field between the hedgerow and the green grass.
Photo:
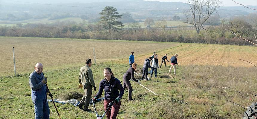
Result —
<svg viewBox="0 0 257 119"><path fill-rule="evenodd" d="M93 47L97 62L121 59L121 63L128 63L130 52L134 51L136 62L142 65L157 51L159 59L165 53L168 59L177 53L180 65L252 66L239 59L257 64L257 48L248 46L17 37L0 37L0 42L0 76L14 74L13 47L17 73L32 72L37 62L44 64L44 71L84 65L85 58L94 59Z"/></svg>

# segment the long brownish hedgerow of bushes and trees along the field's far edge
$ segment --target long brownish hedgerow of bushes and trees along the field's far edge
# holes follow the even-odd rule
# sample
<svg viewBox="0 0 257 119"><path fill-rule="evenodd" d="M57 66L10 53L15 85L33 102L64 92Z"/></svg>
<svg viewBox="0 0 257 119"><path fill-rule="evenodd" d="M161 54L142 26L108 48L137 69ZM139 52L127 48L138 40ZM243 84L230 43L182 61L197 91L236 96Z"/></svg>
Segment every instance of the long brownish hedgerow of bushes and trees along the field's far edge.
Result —
<svg viewBox="0 0 257 119"><path fill-rule="evenodd" d="M225 21L224 21L225 22ZM12 28L0 28L0 36L17 37L48 37L48 38L82 38L82 39L116 39L138 41L172 41L186 43L209 43L209 44L236 44L251 45L240 41L226 30L233 30L245 38L254 40L253 33L256 29L243 19L234 19L230 24L222 22L215 27L207 27L199 34L188 27L166 28L167 21L155 22L154 28L143 29L137 22L130 24L132 29L105 30L101 22L94 24L77 24L76 22L60 22L53 26L50 24L26 24ZM110 37L111 34L111 37Z"/></svg>

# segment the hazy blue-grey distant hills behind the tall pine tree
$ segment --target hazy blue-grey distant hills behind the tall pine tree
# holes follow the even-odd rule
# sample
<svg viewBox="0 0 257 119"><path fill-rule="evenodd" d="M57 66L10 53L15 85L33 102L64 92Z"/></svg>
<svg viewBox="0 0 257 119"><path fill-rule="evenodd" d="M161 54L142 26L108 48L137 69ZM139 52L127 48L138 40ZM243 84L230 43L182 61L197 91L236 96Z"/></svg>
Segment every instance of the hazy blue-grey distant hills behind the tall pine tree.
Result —
<svg viewBox="0 0 257 119"><path fill-rule="evenodd" d="M30 3L28 3L30 2ZM0 20L21 21L28 19L83 17L89 21L97 21L99 13L106 6L115 7L119 13L129 13L134 19L172 19L173 16L185 18L183 10L189 8L182 2L160 2L143 0L73 0L73 3L61 0L27 0L26 2L1 3ZM83 2L83 3L82 3ZM88 2L88 3L85 3ZM35 4L43 3L43 4ZM48 4L46 4L48 3ZM51 4L49 4L51 3ZM257 8L257 6L250 6ZM233 18L239 15L247 15L256 10L250 10L243 6L221 7L218 10L219 18Z"/></svg>

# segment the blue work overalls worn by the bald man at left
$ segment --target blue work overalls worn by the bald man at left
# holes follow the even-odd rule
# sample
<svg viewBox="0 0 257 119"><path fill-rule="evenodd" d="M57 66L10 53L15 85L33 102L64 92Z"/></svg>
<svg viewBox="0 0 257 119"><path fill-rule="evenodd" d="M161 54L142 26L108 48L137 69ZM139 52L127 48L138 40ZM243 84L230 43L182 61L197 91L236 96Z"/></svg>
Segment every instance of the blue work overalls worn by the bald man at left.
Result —
<svg viewBox="0 0 257 119"><path fill-rule="evenodd" d="M41 81L45 78L44 74L36 71L30 74L29 84L31 88L31 99L35 109L35 119L49 119L49 106L46 98L46 85Z"/></svg>

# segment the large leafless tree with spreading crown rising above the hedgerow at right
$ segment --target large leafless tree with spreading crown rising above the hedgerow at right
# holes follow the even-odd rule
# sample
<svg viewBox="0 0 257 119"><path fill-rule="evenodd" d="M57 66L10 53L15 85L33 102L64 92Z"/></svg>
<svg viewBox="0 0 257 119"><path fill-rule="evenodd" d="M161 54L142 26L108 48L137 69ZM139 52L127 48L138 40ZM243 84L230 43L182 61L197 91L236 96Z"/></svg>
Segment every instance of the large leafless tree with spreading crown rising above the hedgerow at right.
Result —
<svg viewBox="0 0 257 119"><path fill-rule="evenodd" d="M184 11L187 18L184 23L192 24L196 33L200 33L204 22L221 7L222 2L221 0L190 0L187 4L190 8Z"/></svg>

